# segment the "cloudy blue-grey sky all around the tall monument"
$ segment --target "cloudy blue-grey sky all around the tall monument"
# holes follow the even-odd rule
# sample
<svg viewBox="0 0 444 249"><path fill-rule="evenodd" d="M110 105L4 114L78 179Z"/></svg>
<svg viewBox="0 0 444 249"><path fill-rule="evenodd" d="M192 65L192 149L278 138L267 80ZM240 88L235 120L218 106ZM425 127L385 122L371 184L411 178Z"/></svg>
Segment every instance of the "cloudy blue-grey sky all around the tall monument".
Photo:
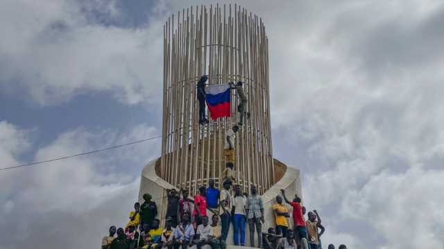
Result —
<svg viewBox="0 0 444 249"><path fill-rule="evenodd" d="M201 3L0 1L0 167L160 134L162 25ZM239 4L266 25L274 156L323 244L444 248L444 3ZM99 247L160 142L0 172L0 248Z"/></svg>

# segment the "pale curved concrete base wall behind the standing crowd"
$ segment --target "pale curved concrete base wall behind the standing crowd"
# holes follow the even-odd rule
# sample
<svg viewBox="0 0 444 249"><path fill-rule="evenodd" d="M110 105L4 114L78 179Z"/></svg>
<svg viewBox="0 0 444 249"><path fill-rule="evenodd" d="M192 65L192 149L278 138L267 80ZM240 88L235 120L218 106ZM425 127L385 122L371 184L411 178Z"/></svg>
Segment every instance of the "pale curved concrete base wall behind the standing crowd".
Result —
<svg viewBox="0 0 444 249"><path fill-rule="evenodd" d="M139 190L139 201L142 203L142 195L145 193L150 193L153 196L153 201L157 203L157 210L159 210L157 214L157 219L161 220L161 225L164 225L165 212L167 212L167 189L171 189L174 186L164 181L162 178L157 176L155 170L156 160L148 163L144 169L142 170L142 178L140 180L140 190ZM283 164L282 164L283 165ZM284 165L285 166L285 165ZM262 201L264 201L264 210L265 210L265 223L262 226L262 231L268 229L269 227L274 226L274 214L273 210L271 210L271 205L275 203L275 197L280 194L280 190L284 189L286 195L289 199L293 199L294 194L298 194L302 196L302 185L300 183L300 172L299 169L293 167L284 167L286 169L285 174L283 174L282 178L273 185L268 191L266 191L262 195ZM285 204L287 205L287 204ZM291 206L287 205L287 208L291 212ZM211 212L207 212L209 215L212 215ZM211 218L211 217L210 217ZM293 225L293 219L290 217L288 219L289 224ZM249 230L248 225L246 225L245 229L246 234L246 246L250 246L250 238L249 238ZM230 227L230 232L227 239L227 244L232 245L232 235L233 228ZM255 245L257 246L257 235L255 236Z"/></svg>

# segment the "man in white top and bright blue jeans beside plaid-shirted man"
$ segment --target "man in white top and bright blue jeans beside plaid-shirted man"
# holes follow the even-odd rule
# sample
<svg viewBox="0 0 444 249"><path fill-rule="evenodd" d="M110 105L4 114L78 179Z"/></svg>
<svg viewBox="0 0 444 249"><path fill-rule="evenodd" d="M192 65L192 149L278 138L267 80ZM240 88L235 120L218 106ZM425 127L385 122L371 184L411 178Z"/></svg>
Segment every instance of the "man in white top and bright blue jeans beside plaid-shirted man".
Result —
<svg viewBox="0 0 444 249"><path fill-rule="evenodd" d="M236 185L234 187L234 246L239 246L239 233L241 234L241 246L245 246L245 205L246 200L241 192L241 187Z"/></svg>

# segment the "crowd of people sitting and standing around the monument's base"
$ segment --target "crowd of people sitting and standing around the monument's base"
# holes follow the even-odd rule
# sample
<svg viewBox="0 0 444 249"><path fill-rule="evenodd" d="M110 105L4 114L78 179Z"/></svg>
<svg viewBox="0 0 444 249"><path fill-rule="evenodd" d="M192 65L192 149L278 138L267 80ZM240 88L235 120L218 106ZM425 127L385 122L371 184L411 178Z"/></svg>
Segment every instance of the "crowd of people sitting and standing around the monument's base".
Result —
<svg viewBox="0 0 444 249"><path fill-rule="evenodd" d="M210 179L208 187L199 188L193 199L188 190L167 190L167 210L164 227L160 226L157 205L151 194L144 194L144 203L135 203L128 214L125 228L110 227L109 235L103 237L102 249L187 249L210 245L212 249L225 249L232 224L235 246L245 246L245 226L248 224L250 247L265 249L318 249L325 228L316 210L308 212L305 221L305 208L298 195L290 201L284 190L276 196L272 205L275 216L274 226L262 231L264 226L264 204L256 186L250 186L250 193L242 193L240 185L232 186L223 182L223 188L214 187ZM233 188L233 192L231 192ZM182 198L180 198L182 197ZM292 215L287 208L292 208ZM207 211L211 215L207 215ZM209 219L210 218L210 219ZM292 218L293 225L289 219ZM117 235L117 236L116 236ZM255 235L257 244L255 245ZM328 249L334 249L330 244ZM346 249L345 245L339 249Z"/></svg>

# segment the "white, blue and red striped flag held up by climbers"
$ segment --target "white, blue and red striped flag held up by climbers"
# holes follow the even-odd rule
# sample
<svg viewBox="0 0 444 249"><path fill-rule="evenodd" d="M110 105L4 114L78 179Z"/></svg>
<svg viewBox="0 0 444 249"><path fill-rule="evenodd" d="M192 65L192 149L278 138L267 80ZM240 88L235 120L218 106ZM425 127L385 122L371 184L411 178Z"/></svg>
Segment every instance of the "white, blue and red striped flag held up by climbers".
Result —
<svg viewBox="0 0 444 249"><path fill-rule="evenodd" d="M209 85L205 89L207 106L212 120L221 117L231 117L230 111L230 84Z"/></svg>

